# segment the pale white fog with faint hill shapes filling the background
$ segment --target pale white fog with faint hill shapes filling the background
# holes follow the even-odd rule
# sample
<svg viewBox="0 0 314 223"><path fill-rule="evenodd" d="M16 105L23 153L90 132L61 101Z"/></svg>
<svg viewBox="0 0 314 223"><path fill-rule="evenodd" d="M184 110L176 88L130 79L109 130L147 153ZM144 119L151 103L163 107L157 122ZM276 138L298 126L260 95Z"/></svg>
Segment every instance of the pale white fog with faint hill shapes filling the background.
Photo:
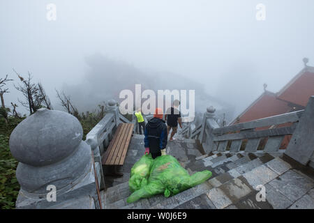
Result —
<svg viewBox="0 0 314 223"><path fill-rule="evenodd" d="M46 18L48 3L57 20ZM255 6L266 6L257 21ZM314 61L313 0L1 0L0 77L31 72L82 111L121 89L195 89L196 110L237 116ZM6 105L22 99L13 83ZM219 104L219 105L218 105ZM27 113L22 106L18 112Z"/></svg>

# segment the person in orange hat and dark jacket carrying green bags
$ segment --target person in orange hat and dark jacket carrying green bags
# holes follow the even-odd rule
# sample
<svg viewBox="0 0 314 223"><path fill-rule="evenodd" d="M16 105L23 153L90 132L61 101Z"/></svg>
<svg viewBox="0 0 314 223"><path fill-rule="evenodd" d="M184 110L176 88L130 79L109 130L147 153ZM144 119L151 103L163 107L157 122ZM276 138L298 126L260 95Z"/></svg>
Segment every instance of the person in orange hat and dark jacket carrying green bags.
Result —
<svg viewBox="0 0 314 223"><path fill-rule="evenodd" d="M151 153L155 159L167 146L167 125L163 121L163 110L156 108L154 118L147 123L144 131L145 154Z"/></svg>

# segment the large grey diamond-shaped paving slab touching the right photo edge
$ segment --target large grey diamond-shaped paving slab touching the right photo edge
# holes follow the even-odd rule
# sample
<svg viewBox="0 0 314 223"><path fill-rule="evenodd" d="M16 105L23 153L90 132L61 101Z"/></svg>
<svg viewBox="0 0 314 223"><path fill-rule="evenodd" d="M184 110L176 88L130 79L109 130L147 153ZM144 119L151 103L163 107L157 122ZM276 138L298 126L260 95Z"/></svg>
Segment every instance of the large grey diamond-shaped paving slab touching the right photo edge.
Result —
<svg viewBox="0 0 314 223"><path fill-rule="evenodd" d="M300 199L314 187L313 182L292 170L289 170L285 172L285 174L278 176L278 178L271 180L269 185L274 187L293 202Z"/></svg>

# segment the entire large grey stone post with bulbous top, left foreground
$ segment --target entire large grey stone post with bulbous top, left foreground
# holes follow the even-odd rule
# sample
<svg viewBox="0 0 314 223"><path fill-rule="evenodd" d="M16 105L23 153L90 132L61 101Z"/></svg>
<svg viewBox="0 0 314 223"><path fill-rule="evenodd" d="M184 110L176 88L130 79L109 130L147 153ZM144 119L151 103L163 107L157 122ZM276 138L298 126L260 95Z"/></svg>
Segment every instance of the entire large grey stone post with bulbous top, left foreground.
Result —
<svg viewBox="0 0 314 223"><path fill-rule="evenodd" d="M91 148L74 116L38 109L13 130L17 208L99 208Z"/></svg>

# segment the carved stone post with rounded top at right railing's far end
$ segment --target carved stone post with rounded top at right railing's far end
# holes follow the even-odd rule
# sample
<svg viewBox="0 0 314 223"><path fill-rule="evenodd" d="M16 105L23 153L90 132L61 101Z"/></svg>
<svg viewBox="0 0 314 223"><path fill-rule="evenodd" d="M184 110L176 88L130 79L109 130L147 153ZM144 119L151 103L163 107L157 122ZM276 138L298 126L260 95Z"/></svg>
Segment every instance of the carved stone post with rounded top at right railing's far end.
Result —
<svg viewBox="0 0 314 223"><path fill-rule="evenodd" d="M210 153L215 151L217 144L213 141L212 131L214 128L219 128L218 123L215 121L214 112L216 109L214 107L207 107L207 112L204 114L202 121L202 129L200 133L200 143L202 144L204 151Z"/></svg>

